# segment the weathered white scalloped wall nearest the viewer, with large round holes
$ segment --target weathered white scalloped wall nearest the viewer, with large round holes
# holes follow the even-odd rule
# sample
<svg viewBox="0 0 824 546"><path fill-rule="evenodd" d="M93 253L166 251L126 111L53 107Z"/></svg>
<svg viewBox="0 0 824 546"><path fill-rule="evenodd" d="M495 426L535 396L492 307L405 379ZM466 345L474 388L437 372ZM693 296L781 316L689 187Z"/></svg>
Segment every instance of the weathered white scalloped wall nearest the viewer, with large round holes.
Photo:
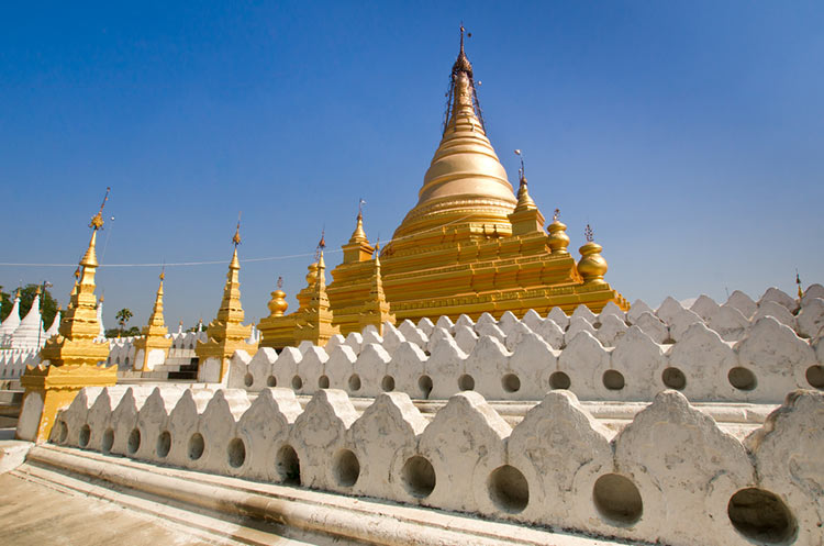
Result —
<svg viewBox="0 0 824 546"><path fill-rule="evenodd" d="M52 441L160 465L672 545L821 544L824 393L744 442L677 391L614 437L569 391L512 427L477 392L430 419L400 392L85 389ZM755 525L754 525L755 524ZM751 542L750 542L751 541Z"/></svg>

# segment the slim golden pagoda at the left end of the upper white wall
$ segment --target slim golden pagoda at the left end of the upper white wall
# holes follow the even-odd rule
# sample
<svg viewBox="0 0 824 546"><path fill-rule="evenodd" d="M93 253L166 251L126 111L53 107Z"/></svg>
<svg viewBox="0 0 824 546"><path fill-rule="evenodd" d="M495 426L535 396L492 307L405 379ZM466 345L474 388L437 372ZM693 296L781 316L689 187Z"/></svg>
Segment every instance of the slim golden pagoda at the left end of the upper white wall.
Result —
<svg viewBox="0 0 824 546"><path fill-rule="evenodd" d="M223 299L218 316L207 326L208 341L198 339L194 354L198 355L198 380L204 382L223 382L229 370L229 360L235 350L245 350L249 356L257 353L257 342L248 343L252 325L244 326L244 313L241 305L241 261L237 259L237 245L241 244L241 222L232 237L235 246L229 264L226 285L223 287Z"/></svg>

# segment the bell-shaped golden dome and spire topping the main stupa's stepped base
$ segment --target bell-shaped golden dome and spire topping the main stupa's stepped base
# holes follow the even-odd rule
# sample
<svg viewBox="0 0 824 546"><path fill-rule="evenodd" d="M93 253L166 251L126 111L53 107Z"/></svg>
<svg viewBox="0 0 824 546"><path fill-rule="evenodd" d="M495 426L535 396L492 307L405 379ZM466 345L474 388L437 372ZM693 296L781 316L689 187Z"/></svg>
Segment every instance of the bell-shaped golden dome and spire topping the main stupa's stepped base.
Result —
<svg viewBox="0 0 824 546"><path fill-rule="evenodd" d="M463 35L450 96L444 134L424 176L417 204L394 232L394 239L446 224L509 225L508 215L517 201L487 138Z"/></svg>

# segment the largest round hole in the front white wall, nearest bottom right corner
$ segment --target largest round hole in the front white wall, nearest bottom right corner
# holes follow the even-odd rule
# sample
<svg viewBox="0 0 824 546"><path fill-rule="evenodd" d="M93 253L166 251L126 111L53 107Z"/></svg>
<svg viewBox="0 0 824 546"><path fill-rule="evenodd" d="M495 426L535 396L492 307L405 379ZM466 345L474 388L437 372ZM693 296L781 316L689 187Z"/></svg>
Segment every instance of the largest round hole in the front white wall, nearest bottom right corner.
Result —
<svg viewBox="0 0 824 546"><path fill-rule="evenodd" d="M758 544L786 544L798 531L787 504L764 489L742 489L730 499L726 511L736 531Z"/></svg>

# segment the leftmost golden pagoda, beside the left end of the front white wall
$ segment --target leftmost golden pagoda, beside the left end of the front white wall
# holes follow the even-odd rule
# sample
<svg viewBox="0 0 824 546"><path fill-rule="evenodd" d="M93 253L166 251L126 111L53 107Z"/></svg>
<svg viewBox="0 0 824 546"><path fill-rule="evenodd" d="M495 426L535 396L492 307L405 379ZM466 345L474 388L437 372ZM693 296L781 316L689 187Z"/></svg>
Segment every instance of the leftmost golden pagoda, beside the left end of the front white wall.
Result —
<svg viewBox="0 0 824 546"><path fill-rule="evenodd" d="M71 403L80 389L116 383L116 366L104 366L109 357L108 341L94 342L100 333L94 296L96 244L98 230L103 226L103 207L108 199L107 188L103 203L89 224L91 239L75 272L75 286L59 333L46 339L40 352L41 364L26 368L20 380L25 389L16 433L21 439L48 439L57 412Z"/></svg>

